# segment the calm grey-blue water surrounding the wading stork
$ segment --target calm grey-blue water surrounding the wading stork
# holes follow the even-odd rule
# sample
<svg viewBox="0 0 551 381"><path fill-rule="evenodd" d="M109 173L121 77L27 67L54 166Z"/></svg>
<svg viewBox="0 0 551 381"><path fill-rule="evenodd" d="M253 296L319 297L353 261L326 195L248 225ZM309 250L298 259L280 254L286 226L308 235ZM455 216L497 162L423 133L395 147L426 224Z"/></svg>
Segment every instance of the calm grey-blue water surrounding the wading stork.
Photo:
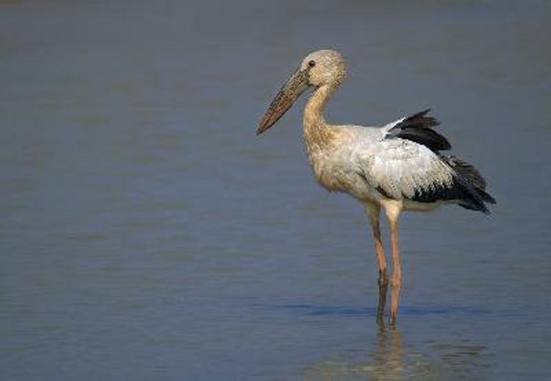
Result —
<svg viewBox="0 0 551 381"><path fill-rule="evenodd" d="M0 378L545 378L550 18L547 1L1 0ZM329 121L431 107L498 202L402 215L394 331L375 325L362 209L313 181L304 99L254 134L320 48L349 65Z"/></svg>

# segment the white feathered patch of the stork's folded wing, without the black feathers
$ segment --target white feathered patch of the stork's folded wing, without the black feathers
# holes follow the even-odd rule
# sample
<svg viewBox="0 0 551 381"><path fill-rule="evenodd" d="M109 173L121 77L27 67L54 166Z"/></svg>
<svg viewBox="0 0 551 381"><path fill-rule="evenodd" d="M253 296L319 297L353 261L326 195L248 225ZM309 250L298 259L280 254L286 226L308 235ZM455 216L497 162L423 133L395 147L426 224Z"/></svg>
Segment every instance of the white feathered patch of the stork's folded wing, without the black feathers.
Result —
<svg viewBox="0 0 551 381"><path fill-rule="evenodd" d="M434 202L453 199L454 171L428 147L402 138L384 138L357 152L366 181L392 199Z"/></svg>

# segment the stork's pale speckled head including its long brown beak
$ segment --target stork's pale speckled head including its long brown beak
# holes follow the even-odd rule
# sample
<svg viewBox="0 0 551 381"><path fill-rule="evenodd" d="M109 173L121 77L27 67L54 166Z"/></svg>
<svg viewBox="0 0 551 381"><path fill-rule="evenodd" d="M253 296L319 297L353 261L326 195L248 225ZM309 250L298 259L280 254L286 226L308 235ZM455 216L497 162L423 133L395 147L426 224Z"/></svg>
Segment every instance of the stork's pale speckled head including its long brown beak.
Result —
<svg viewBox="0 0 551 381"><path fill-rule="evenodd" d="M346 64L335 50L318 50L306 56L272 100L258 125L257 135L273 126L309 87L337 87L346 76Z"/></svg>

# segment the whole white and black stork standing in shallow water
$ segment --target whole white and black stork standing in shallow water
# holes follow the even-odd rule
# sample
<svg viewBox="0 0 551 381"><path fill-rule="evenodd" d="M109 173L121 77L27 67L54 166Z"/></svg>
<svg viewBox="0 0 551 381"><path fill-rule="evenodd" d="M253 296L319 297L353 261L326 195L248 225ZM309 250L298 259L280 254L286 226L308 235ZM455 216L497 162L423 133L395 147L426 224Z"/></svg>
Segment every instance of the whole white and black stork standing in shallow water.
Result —
<svg viewBox="0 0 551 381"><path fill-rule="evenodd" d="M304 108L304 142L315 179L327 190L348 193L366 212L379 265L377 321L382 323L388 275L379 228L384 209L391 230L393 273L391 312L394 324L402 283L397 220L402 210L429 211L457 204L489 214L486 181L464 160L442 155L451 148L433 127L439 122L429 110L383 127L329 124L324 107L346 76L341 54L318 50L306 56L271 102L257 130L263 133L277 122L309 87L313 92Z"/></svg>

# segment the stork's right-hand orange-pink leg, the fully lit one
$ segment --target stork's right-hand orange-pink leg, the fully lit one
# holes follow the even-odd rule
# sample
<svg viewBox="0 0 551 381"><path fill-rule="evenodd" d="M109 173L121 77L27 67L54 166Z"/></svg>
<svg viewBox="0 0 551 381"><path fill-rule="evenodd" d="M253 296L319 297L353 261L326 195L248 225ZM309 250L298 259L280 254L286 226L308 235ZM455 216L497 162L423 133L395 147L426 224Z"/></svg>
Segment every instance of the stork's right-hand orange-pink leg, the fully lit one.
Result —
<svg viewBox="0 0 551 381"><path fill-rule="evenodd" d="M392 295L391 295L391 316L389 324L396 323L398 311L398 298L402 287L402 268L400 266L400 252L398 248L398 215L402 210L401 204L389 204L385 206L386 218L391 228L391 250L392 250Z"/></svg>

